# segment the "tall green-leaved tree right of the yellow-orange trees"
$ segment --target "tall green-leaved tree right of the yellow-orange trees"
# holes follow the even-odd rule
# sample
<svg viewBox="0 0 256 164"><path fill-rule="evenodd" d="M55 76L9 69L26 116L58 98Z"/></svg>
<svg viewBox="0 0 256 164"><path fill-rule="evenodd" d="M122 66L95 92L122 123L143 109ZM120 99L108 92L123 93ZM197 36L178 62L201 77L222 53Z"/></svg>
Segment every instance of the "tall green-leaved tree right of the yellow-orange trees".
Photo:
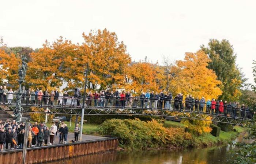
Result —
<svg viewBox="0 0 256 164"><path fill-rule="evenodd" d="M222 95L219 99L237 101L241 96L241 87L246 81L240 69L236 66L236 54L228 40L210 39L208 47L202 45L202 50L211 59L208 68L214 70L218 80L222 82L219 87Z"/></svg>

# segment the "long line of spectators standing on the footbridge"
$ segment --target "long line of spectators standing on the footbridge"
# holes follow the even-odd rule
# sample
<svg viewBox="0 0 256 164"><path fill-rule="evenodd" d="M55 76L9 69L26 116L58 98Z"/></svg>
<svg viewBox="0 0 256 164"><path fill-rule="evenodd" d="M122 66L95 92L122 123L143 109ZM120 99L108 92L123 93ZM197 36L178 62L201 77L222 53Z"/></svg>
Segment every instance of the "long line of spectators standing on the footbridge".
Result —
<svg viewBox="0 0 256 164"><path fill-rule="evenodd" d="M14 92L12 89L8 91L7 87L0 86L0 103L12 103L14 98ZM48 91L39 90L38 88L34 91L33 89L25 89L22 87L22 104L26 105L50 105L50 106L76 106L81 107L82 97L79 89L74 90L74 94L70 97L67 91L55 89ZM138 97L127 91L110 91L101 90L95 91L94 93L89 91L86 94L86 107L87 108L161 108L161 109L178 109L178 110L189 110L195 112L205 113L218 113L237 117L236 110L241 110L240 117L251 118L252 114L245 114L250 112L252 109L246 108L244 104L240 106L239 102L227 102L222 100L206 100L204 97L192 97L187 95L183 97L182 93L177 94L173 97L172 93L164 94L161 91L159 94L154 91L147 91L141 93ZM205 110L204 110L205 109Z"/></svg>

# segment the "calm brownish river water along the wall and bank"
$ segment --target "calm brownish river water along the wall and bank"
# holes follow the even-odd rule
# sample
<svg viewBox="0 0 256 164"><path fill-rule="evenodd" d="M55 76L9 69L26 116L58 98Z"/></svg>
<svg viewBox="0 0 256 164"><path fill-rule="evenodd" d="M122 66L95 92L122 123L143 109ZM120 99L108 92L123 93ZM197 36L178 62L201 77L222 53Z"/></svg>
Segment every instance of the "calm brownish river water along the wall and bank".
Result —
<svg viewBox="0 0 256 164"><path fill-rule="evenodd" d="M243 134L234 142L243 141ZM108 152L52 162L52 164L225 164L230 158L231 146L185 150L155 150L143 152Z"/></svg>

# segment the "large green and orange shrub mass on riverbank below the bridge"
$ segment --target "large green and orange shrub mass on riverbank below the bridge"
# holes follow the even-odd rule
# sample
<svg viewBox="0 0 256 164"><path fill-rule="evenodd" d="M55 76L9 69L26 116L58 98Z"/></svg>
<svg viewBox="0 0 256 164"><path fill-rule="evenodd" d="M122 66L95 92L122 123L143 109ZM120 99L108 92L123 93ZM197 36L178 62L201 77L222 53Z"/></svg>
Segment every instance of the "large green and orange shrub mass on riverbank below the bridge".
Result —
<svg viewBox="0 0 256 164"><path fill-rule="evenodd" d="M181 128L164 128L159 120L106 120L99 125L97 132L118 137L119 146L128 150L187 147L192 144L191 134Z"/></svg>

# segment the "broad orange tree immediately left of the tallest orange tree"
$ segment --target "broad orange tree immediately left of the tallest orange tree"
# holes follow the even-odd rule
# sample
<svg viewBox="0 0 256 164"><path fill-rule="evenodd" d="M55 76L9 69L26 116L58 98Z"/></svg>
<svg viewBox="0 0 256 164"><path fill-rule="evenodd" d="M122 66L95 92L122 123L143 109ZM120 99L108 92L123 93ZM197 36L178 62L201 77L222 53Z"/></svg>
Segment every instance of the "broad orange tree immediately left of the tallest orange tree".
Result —
<svg viewBox="0 0 256 164"><path fill-rule="evenodd" d="M38 52L31 53L26 80L30 86L49 88L60 87L63 82L75 76L71 75L78 46L62 37L50 44L45 42Z"/></svg>

